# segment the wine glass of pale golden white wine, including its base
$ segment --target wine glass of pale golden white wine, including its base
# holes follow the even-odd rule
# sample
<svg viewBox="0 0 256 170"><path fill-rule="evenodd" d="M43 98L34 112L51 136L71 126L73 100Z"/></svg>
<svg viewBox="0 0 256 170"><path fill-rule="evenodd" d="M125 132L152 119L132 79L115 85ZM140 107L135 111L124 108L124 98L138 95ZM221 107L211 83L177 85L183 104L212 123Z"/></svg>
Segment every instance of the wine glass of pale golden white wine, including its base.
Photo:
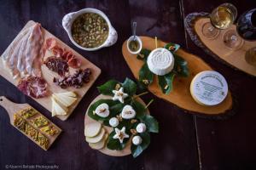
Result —
<svg viewBox="0 0 256 170"><path fill-rule="evenodd" d="M237 10L231 3L223 3L212 10L209 15L211 22L202 26L202 34L208 39L218 37L220 30L229 28L236 20Z"/></svg>

